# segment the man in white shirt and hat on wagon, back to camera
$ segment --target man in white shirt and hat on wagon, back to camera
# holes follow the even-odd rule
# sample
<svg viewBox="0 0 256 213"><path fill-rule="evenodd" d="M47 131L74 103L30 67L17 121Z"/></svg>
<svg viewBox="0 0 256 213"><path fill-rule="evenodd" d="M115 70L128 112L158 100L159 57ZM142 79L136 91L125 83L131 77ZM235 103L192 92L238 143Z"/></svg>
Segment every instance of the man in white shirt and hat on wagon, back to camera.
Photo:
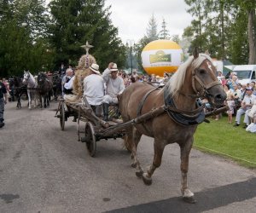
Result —
<svg viewBox="0 0 256 213"><path fill-rule="evenodd" d="M84 78L84 96L90 107L99 116L104 96L104 81L102 76L100 76L99 66L97 64L90 66L89 75Z"/></svg>

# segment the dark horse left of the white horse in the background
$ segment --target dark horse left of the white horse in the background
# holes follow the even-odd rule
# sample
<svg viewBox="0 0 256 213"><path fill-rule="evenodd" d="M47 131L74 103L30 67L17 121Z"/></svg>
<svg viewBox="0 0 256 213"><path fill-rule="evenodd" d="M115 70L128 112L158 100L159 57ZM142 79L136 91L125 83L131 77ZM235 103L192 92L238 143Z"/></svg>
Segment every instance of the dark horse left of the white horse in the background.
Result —
<svg viewBox="0 0 256 213"><path fill-rule="evenodd" d="M21 96L26 95L26 84L22 83L22 79L19 77L14 77L9 79L9 88L17 97L17 108L21 108ZM26 95L27 96L27 95Z"/></svg>

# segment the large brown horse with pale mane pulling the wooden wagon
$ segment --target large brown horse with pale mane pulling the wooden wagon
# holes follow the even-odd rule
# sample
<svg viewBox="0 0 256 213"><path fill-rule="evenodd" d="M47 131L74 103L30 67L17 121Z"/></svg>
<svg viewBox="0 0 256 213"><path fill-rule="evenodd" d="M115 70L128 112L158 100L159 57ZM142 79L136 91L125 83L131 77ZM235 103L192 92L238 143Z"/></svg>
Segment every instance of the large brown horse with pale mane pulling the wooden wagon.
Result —
<svg viewBox="0 0 256 213"><path fill-rule="evenodd" d="M183 199L189 203L195 203L194 193L190 192L187 183L189 153L197 125L205 119L199 98L207 98L212 104L221 105L226 94L216 78L212 59L195 51L164 88L154 89L148 83L133 83L125 89L119 100L124 122L165 107L166 112L159 116L127 128L125 146L131 150L131 157L134 158L131 166L137 167L136 175L142 176L144 183L150 185L154 170L160 167L166 145L176 142L181 151L181 192ZM154 159L147 172L143 172L137 159L137 144L142 135L154 137Z"/></svg>

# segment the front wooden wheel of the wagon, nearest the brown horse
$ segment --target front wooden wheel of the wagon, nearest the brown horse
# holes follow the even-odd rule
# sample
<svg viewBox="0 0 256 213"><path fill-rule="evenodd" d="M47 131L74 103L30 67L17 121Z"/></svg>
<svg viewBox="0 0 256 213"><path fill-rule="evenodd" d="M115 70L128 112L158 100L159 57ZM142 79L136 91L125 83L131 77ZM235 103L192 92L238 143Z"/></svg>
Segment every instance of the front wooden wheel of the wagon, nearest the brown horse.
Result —
<svg viewBox="0 0 256 213"><path fill-rule="evenodd" d="M90 122L85 123L84 128L84 134L85 134L85 144L88 149L88 152L90 153L91 157L94 157L96 154L96 138L95 138L95 132L93 125Z"/></svg>

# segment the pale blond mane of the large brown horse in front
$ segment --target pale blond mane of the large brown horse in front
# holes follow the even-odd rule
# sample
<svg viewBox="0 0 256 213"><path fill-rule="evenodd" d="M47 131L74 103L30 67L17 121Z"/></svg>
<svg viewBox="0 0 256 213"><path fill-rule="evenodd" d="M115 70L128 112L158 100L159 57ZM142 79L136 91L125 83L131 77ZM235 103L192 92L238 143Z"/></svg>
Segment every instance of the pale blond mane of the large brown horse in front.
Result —
<svg viewBox="0 0 256 213"><path fill-rule="evenodd" d="M211 57L206 54L200 54L195 60L193 55L189 56L189 59L178 67L177 72L175 72L172 75L172 78L170 78L166 83L166 88L168 88L169 95L177 95L177 92L182 88L188 67L191 65L192 68L196 69L201 66L201 63L204 60L210 60L212 62Z"/></svg>

